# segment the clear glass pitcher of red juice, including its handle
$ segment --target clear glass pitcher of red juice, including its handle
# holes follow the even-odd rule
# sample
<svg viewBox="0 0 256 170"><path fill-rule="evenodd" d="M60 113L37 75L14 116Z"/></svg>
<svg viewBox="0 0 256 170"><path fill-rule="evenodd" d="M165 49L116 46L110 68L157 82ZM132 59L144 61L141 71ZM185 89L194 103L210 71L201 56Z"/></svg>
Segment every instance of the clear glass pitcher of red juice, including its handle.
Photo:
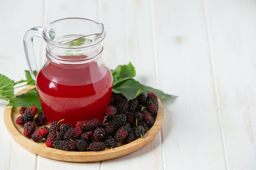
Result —
<svg viewBox="0 0 256 170"><path fill-rule="evenodd" d="M103 24L84 18L65 18L45 28L34 27L24 36L24 49L48 122L100 119L110 102L113 78L102 62ZM38 70L33 38L46 42L46 60ZM38 74L33 74L37 71Z"/></svg>

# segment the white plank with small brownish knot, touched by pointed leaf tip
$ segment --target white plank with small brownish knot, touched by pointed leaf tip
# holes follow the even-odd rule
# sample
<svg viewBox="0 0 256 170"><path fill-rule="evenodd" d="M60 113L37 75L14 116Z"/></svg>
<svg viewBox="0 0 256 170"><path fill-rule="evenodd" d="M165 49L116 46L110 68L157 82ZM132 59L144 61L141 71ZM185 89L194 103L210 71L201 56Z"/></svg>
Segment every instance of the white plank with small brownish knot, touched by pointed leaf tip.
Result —
<svg viewBox="0 0 256 170"><path fill-rule="evenodd" d="M154 0L164 169L226 170L203 3Z"/></svg>

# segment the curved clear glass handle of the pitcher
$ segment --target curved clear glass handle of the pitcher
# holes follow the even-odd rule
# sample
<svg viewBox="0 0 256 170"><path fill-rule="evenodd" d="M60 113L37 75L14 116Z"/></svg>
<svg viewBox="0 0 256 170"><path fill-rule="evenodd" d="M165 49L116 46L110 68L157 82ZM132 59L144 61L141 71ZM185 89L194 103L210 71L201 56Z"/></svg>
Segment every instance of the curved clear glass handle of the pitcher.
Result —
<svg viewBox="0 0 256 170"><path fill-rule="evenodd" d="M29 66L29 72L31 74L32 79L36 80L36 76L34 75L34 71L38 72L38 67L36 65L36 57L34 53L34 45L33 39L34 37L39 37L43 39L43 27L36 26L29 29L23 38L23 45L25 50L25 55L27 59L27 64Z"/></svg>

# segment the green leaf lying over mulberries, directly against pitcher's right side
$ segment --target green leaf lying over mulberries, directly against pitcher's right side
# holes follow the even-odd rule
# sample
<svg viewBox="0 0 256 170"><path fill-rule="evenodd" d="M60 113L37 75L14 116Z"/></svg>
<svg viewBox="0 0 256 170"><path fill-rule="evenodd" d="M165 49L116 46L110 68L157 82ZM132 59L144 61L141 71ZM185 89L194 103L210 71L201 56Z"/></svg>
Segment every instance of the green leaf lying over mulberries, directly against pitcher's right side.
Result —
<svg viewBox="0 0 256 170"><path fill-rule="evenodd" d="M127 99L134 99L141 93L143 93L144 86L134 79L128 79L121 82L118 86L113 87L115 93L123 94Z"/></svg>

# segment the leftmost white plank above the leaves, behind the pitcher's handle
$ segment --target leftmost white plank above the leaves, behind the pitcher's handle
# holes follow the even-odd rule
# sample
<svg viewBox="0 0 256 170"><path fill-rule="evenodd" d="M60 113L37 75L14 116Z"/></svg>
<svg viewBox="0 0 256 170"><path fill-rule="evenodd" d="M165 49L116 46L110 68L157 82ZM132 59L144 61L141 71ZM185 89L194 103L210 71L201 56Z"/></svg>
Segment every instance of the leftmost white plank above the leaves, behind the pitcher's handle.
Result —
<svg viewBox="0 0 256 170"><path fill-rule="evenodd" d="M24 70L28 70L28 66L23 49L23 36L31 27L42 26L42 6L43 0L38 2L33 0L27 0L26 2L18 0L1 2L0 73L13 80L18 81L25 78ZM40 60L40 44L38 42L42 40L36 38L35 41L36 57Z"/></svg>

